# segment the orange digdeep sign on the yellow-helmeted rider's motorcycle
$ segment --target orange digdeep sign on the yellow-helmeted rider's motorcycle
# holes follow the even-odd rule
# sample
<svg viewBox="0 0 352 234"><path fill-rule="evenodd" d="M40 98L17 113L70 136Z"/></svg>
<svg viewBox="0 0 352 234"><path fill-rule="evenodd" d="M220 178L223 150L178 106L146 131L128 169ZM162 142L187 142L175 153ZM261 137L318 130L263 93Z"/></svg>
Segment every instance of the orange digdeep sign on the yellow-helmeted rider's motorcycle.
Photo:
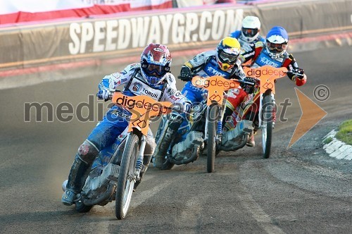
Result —
<svg viewBox="0 0 352 234"><path fill-rule="evenodd" d="M224 91L239 87L239 82L227 80L220 75L210 76L209 78L195 76L192 79L192 85L208 90L208 101L206 104L210 106L213 101L221 105L224 98Z"/></svg>

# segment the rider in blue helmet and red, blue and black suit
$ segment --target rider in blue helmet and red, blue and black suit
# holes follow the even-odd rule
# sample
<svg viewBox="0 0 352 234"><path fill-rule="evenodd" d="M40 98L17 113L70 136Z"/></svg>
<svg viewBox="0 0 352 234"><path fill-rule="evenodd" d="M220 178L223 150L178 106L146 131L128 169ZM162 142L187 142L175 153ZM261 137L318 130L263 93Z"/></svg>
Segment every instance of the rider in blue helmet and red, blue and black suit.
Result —
<svg viewBox="0 0 352 234"><path fill-rule="evenodd" d="M251 67L254 68L265 65L270 65L275 68L285 67L292 72L287 73L289 79L295 82L297 86L304 85L307 76L304 74L303 69L298 68L294 56L286 51L288 42L289 35L287 34L287 31L283 27L275 26L272 27L266 35L265 43L257 42L256 44L252 44L251 50L244 51L240 58L243 63L251 60ZM249 97L244 90L239 89L239 92L236 94L229 92L224 119L227 119L227 116L231 116L237 106L239 106L242 101L245 101L246 98ZM275 114L276 113L274 113L274 116ZM256 133L256 126L254 132L249 137L249 142L247 143L249 147L254 147L255 145L254 133Z"/></svg>

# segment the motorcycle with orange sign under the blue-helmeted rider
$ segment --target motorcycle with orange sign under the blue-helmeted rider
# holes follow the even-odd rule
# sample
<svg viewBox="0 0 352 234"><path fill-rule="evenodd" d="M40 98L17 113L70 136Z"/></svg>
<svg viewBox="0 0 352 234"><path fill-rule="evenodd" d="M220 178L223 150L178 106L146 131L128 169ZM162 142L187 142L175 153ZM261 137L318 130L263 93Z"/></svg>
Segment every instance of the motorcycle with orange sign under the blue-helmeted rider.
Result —
<svg viewBox="0 0 352 234"><path fill-rule="evenodd" d="M232 113L232 120L226 123L230 130L224 133L219 149L224 151L240 149L246 145L249 137L248 134L241 133L261 130L263 158L268 159L276 114L275 82L279 78L284 78L288 71L287 68L262 66L244 67L244 73L246 77L254 78L257 82L246 100Z"/></svg>

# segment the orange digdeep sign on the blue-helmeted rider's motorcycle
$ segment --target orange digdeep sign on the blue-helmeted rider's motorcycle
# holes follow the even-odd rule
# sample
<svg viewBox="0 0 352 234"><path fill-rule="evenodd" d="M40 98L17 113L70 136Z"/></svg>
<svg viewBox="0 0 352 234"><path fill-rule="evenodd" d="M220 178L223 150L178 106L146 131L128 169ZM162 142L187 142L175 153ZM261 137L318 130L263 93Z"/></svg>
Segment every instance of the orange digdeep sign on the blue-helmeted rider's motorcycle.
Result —
<svg viewBox="0 0 352 234"><path fill-rule="evenodd" d="M246 73L246 77L260 79L260 94L266 90L272 90L272 93L275 94L275 80L286 76L287 68L274 68L269 65L259 68L244 67L244 73Z"/></svg>

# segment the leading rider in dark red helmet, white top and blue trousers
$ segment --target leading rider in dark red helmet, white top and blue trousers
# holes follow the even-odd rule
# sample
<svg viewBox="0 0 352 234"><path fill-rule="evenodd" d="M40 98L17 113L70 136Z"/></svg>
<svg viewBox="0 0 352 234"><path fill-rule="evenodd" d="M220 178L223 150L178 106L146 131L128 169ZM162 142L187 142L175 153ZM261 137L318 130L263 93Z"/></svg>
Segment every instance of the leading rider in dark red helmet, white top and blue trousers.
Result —
<svg viewBox="0 0 352 234"><path fill-rule="evenodd" d="M146 95L157 101L171 101L173 104L180 104L187 111L191 105L176 89L175 77L170 73L171 61L170 51L165 45L149 44L142 52L141 63L132 63L120 73L106 75L99 83L99 92L96 95L99 99L111 99L111 90L125 84L122 91L125 95ZM94 159L101 149L112 144L125 130L130 115L129 111L113 105L79 147L61 199L63 204L70 206L74 203L77 193L82 190ZM144 150L145 170L141 172L141 177L151 161L155 145L153 133L149 129Z"/></svg>

